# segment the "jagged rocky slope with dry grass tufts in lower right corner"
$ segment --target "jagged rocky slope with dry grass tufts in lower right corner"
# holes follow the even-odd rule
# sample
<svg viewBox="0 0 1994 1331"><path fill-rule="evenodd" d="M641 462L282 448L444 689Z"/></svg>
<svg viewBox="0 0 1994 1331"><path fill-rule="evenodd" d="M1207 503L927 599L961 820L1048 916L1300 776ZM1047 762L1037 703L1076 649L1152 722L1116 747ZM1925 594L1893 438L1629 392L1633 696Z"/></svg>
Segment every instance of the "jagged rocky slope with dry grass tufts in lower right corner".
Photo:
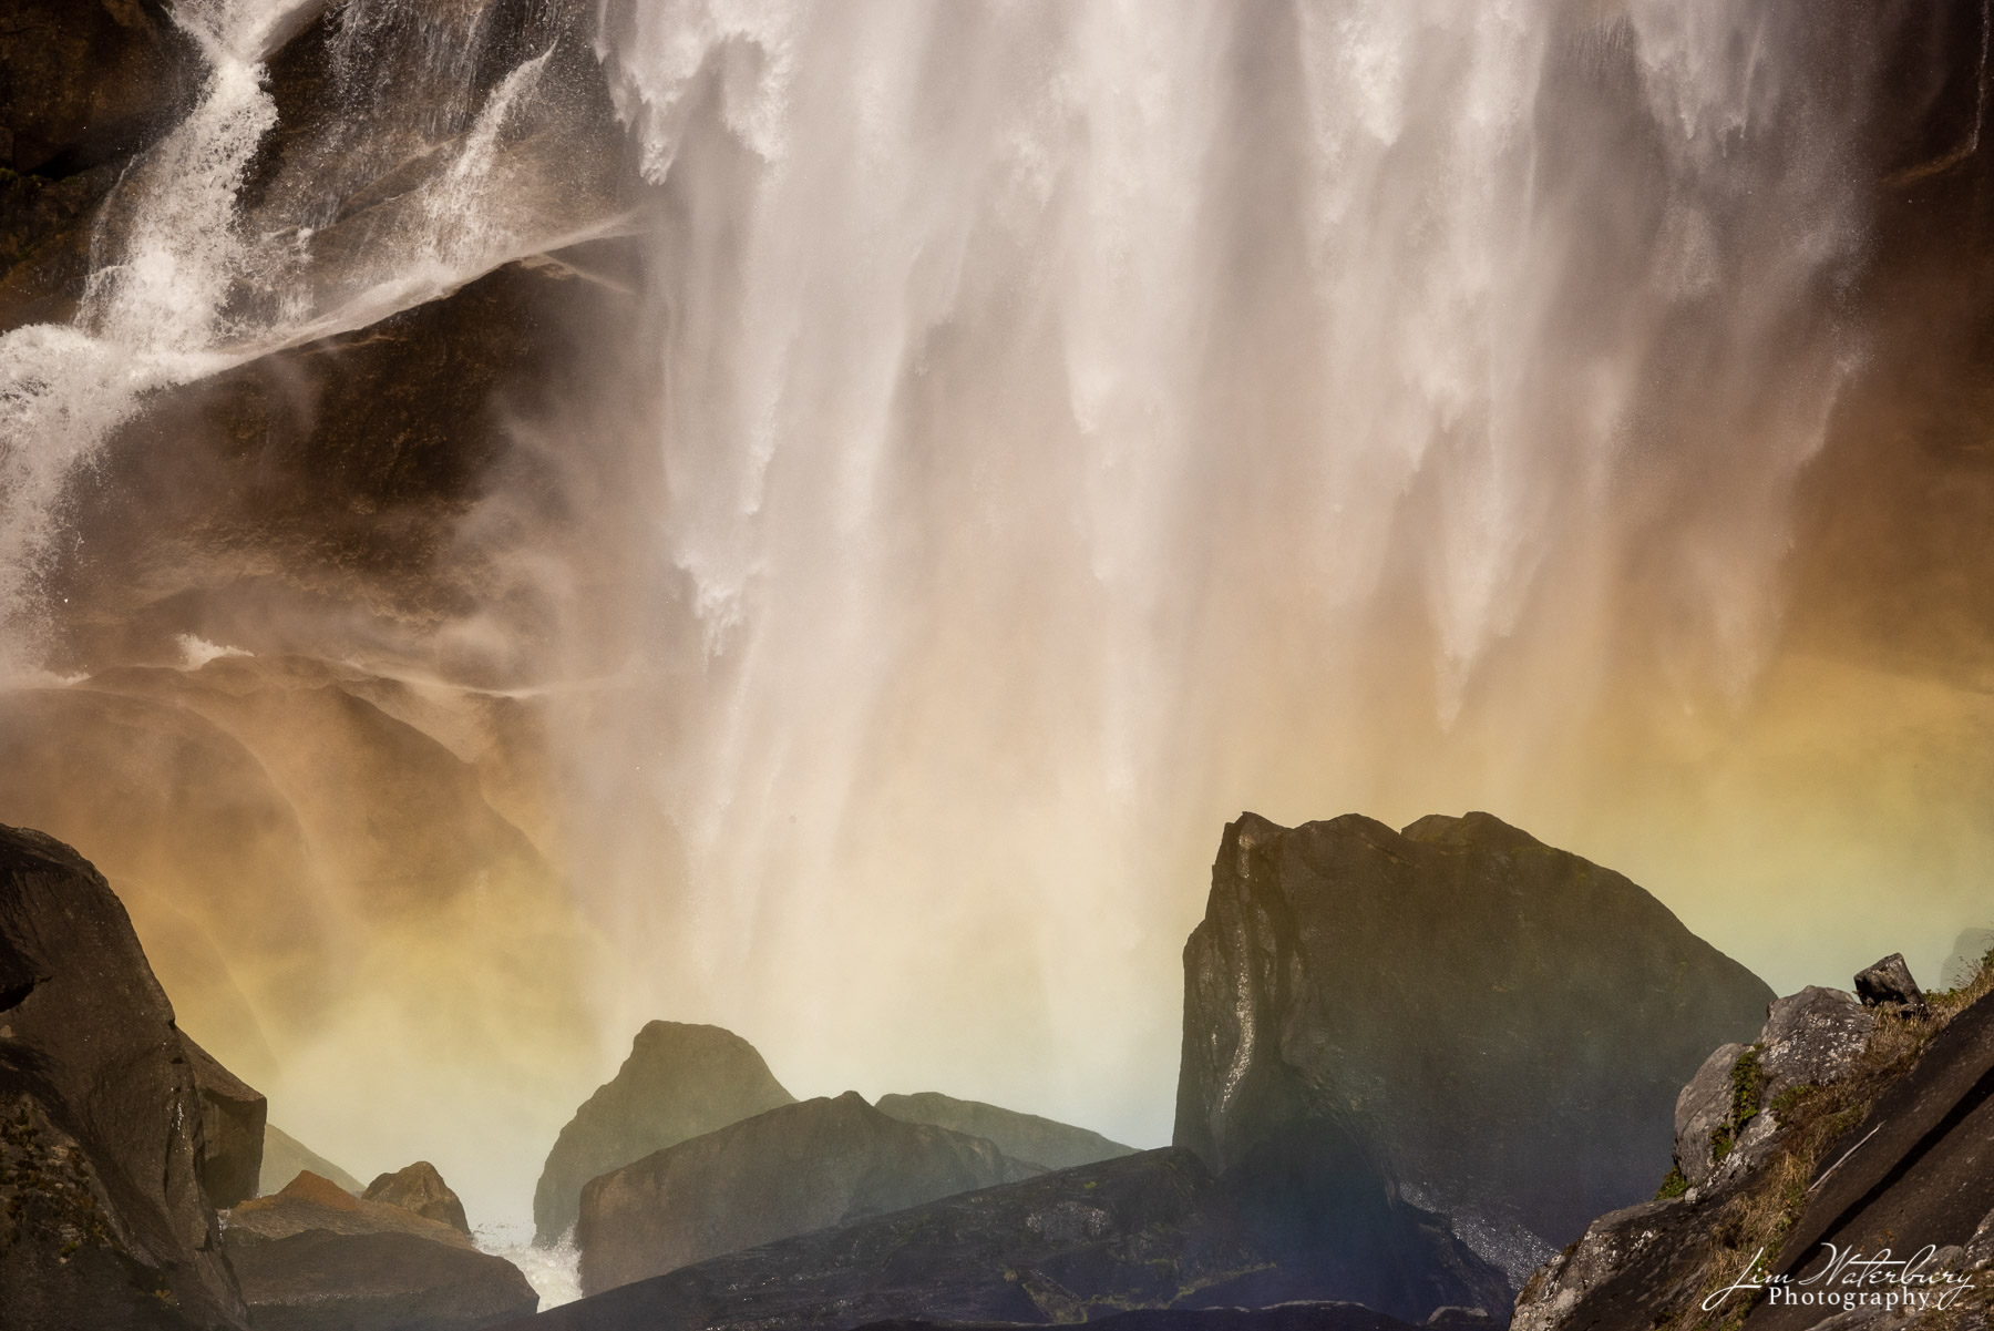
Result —
<svg viewBox="0 0 1994 1331"><path fill-rule="evenodd" d="M1739 1054L1787 1046L1771 1068L1745 1064L1751 1072L1737 1080L1737 1149L1705 1183L1593 1221L1529 1279L1515 1331L1613 1331L1685 1315L1735 1325L1747 1309L1747 1331L1803 1331L1830 1317L1836 1331L1852 1331L1886 1309L1844 1311L1827 1297L1860 1289L1842 1279L1848 1267L1823 1275L1827 1245L1862 1257L1890 1249L1898 1259L1930 1249L1930 1271L1994 1265L1994 994L1980 978L1944 1004L1962 1006L1874 1018L1866 1048L1850 1054L1860 1030L1848 1022L1850 996L1807 990L1781 1000L1761 1042ZM1793 1080L1809 1074L1825 1080ZM1785 1090L1761 1104L1779 1082ZM1763 1265L1753 1283L1779 1287L1777 1295L1727 1295L1755 1255ZM1854 1279L1870 1271L1854 1269ZM1988 1295L1994 1289L1948 1301L1958 1307L1944 1317L1928 1309L1888 1321L1972 1325L1986 1317Z"/></svg>

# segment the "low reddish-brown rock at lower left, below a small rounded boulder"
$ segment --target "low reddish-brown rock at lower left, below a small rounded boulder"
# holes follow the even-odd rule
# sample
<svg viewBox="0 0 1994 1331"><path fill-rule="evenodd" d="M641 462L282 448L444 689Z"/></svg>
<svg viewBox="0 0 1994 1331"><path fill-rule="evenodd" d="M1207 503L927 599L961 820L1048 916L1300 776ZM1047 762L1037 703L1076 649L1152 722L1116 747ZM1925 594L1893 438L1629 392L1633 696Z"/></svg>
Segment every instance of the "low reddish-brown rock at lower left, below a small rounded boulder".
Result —
<svg viewBox="0 0 1994 1331"><path fill-rule="evenodd" d="M257 1331L471 1331L538 1307L518 1267L459 1229L315 1173L235 1207L227 1253Z"/></svg>

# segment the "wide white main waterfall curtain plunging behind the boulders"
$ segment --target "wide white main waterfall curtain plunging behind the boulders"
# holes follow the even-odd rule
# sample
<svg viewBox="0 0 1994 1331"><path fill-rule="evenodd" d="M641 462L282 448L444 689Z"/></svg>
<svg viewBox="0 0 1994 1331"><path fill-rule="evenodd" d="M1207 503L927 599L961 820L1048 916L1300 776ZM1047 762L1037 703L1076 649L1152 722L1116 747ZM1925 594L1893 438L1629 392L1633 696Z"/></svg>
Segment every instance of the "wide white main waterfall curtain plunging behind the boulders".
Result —
<svg viewBox="0 0 1994 1331"><path fill-rule="evenodd" d="M1555 832L1745 698L1860 351L1805 18L610 0L656 487L556 730L620 1028L1159 1141L1226 818Z"/></svg>

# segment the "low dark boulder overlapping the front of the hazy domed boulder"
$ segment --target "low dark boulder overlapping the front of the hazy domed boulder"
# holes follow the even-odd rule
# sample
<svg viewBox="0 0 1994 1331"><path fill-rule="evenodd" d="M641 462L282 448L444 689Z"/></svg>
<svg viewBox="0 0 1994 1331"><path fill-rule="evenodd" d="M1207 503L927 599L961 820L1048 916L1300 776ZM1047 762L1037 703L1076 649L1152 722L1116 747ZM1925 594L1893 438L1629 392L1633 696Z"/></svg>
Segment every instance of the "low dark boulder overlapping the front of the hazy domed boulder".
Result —
<svg viewBox="0 0 1994 1331"><path fill-rule="evenodd" d="M981 1137L903 1123L857 1092L730 1123L582 1189L582 1291L1041 1173Z"/></svg>

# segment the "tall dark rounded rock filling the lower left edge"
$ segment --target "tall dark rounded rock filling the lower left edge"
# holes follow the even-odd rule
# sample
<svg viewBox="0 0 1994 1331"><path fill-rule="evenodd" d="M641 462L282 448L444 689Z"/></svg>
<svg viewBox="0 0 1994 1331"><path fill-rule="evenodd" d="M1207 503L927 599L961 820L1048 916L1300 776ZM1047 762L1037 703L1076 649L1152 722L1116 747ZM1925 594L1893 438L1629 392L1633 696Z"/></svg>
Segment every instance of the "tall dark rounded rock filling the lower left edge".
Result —
<svg viewBox="0 0 1994 1331"><path fill-rule="evenodd" d="M0 1291L10 1329L243 1327L203 1106L124 906L0 828Z"/></svg>

